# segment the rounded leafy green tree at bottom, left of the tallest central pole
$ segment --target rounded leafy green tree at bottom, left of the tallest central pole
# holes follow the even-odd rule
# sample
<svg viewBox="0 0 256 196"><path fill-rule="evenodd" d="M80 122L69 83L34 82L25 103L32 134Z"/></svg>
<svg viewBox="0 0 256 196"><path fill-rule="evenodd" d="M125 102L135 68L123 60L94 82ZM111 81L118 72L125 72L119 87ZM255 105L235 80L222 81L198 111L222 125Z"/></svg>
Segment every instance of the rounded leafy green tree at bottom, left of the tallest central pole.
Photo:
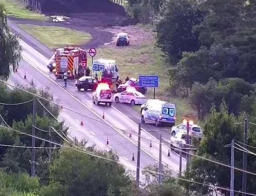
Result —
<svg viewBox="0 0 256 196"><path fill-rule="evenodd" d="M118 161L118 157L112 152L95 150L92 152ZM129 177L126 176L125 168L118 163L72 149L62 149L59 157L53 160L50 167L50 179L50 186L58 183L62 187L64 191L62 195L72 194L74 196L81 195L81 193L85 196L105 196L109 185L112 185L116 195L120 195L120 188L131 183Z"/></svg>

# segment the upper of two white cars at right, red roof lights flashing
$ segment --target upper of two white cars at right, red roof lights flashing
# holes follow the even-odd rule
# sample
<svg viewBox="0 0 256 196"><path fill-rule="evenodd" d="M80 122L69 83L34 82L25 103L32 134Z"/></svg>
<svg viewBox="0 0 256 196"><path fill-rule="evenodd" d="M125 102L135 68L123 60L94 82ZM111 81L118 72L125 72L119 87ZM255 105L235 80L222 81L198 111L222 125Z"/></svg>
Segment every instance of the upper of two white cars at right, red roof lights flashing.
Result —
<svg viewBox="0 0 256 196"><path fill-rule="evenodd" d="M172 136L175 136L179 132L187 132L187 124L172 127ZM189 125L189 134L199 138L203 135L201 127L198 125Z"/></svg>

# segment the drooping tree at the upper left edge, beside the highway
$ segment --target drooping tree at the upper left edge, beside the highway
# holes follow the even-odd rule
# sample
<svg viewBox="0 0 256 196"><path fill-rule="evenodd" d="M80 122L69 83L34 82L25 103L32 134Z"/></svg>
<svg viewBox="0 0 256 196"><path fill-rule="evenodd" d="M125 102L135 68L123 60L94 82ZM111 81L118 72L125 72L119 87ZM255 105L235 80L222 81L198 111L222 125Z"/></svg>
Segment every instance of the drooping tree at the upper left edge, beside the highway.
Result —
<svg viewBox="0 0 256 196"><path fill-rule="evenodd" d="M18 68L21 59L21 46L17 35L10 32L7 25L6 9L0 3L0 77L8 79L10 76L10 66L13 71Z"/></svg>

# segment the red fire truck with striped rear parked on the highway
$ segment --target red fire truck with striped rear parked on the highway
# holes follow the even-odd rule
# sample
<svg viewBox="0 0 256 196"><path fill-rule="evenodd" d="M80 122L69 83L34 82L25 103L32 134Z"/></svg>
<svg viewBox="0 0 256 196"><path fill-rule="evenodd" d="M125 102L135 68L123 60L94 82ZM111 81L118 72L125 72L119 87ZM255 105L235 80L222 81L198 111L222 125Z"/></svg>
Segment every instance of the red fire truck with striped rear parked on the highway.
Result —
<svg viewBox="0 0 256 196"><path fill-rule="evenodd" d="M53 67L56 78L64 78L66 71L69 79L82 77L87 69L87 53L80 47L58 48Z"/></svg>

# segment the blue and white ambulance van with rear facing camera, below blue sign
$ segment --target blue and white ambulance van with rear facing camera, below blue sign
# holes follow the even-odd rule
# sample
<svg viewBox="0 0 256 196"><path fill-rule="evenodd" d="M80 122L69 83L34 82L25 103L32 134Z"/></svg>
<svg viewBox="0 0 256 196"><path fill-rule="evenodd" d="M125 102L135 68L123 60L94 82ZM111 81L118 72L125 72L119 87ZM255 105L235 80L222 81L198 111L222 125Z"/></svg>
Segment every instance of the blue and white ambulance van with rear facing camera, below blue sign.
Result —
<svg viewBox="0 0 256 196"><path fill-rule="evenodd" d="M151 99L141 105L140 112L141 123L148 121L159 127L160 124L174 126L176 122L176 109L173 103Z"/></svg>

